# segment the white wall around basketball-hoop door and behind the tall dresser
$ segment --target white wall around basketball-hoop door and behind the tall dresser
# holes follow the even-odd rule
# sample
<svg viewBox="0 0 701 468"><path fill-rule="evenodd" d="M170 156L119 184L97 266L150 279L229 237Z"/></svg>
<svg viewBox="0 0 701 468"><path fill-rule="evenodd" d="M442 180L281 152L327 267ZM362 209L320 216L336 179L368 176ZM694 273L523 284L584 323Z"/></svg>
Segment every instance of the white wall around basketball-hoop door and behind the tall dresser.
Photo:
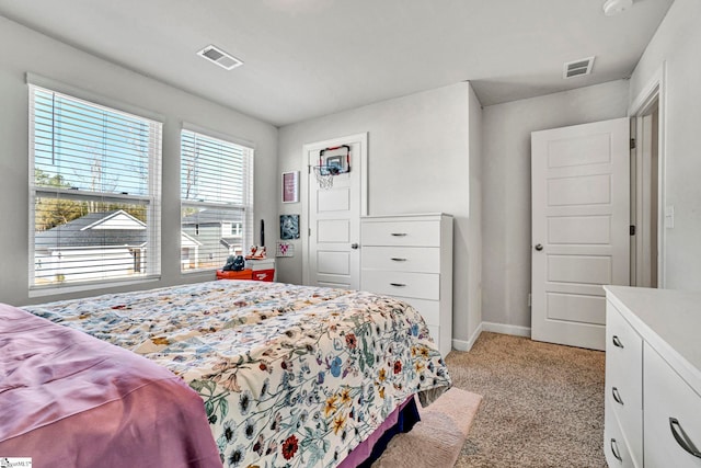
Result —
<svg viewBox="0 0 701 468"><path fill-rule="evenodd" d="M469 83L458 83L281 127L278 139L279 171L300 170L306 178L304 144L368 132L370 215L455 216L453 336L460 340L470 335L469 156L478 149L470 148L468 128L479 126L470 126L469 106L475 103ZM300 198L300 204L280 204L280 213L301 215L306 194ZM278 259L278 279L300 284L303 252L299 241L295 247L296 256Z"/></svg>

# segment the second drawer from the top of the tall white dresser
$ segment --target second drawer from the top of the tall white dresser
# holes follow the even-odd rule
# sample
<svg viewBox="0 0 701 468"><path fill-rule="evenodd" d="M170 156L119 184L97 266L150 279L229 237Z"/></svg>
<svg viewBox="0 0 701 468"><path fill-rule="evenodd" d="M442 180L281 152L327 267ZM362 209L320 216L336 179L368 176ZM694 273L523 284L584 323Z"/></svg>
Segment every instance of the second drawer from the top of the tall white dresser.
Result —
<svg viewBox="0 0 701 468"><path fill-rule="evenodd" d="M363 247L364 269L440 273L438 247Z"/></svg>

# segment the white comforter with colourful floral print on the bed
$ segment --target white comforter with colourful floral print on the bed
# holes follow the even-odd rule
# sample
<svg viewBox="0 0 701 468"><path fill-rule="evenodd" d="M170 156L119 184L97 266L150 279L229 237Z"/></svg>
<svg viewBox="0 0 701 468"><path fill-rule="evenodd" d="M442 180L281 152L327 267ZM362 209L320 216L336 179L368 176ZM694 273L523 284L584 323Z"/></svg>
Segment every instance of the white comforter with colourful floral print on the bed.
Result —
<svg viewBox="0 0 701 468"><path fill-rule="evenodd" d="M181 376L228 467L336 466L409 396L450 387L418 312L370 293L219 281L25 309Z"/></svg>

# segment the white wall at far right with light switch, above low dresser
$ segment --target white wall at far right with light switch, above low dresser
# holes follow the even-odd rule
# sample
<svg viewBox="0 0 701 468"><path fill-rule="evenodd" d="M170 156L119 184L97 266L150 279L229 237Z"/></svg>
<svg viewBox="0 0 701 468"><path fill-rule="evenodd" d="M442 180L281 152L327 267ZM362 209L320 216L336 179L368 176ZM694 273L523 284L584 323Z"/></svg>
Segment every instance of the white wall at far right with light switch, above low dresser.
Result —
<svg viewBox="0 0 701 468"><path fill-rule="evenodd" d="M676 0L631 77L633 103L663 67L665 205L674 228L665 230L665 287L701 290L701 2Z"/></svg>

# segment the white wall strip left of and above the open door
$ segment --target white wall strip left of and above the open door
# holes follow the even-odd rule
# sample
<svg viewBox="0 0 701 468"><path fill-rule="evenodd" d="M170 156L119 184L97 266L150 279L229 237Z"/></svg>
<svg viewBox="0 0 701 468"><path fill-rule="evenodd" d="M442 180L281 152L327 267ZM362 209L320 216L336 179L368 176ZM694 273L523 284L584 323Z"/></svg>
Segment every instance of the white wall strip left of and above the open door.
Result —
<svg viewBox="0 0 701 468"><path fill-rule="evenodd" d="M482 319L492 330L530 333L530 133L624 117L619 80L484 107Z"/></svg>

